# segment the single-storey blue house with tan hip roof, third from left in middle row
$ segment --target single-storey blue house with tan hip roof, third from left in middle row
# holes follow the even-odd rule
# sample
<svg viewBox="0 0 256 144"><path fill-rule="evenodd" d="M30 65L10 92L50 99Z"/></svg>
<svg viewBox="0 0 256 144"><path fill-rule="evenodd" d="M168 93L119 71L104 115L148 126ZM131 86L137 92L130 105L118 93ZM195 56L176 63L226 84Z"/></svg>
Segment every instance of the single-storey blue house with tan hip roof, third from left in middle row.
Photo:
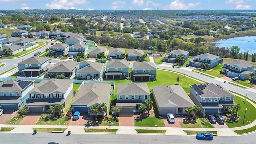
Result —
<svg viewBox="0 0 256 144"><path fill-rule="evenodd" d="M104 72L104 63L82 61L79 63L79 70L76 72L76 77L85 80L102 80Z"/></svg>

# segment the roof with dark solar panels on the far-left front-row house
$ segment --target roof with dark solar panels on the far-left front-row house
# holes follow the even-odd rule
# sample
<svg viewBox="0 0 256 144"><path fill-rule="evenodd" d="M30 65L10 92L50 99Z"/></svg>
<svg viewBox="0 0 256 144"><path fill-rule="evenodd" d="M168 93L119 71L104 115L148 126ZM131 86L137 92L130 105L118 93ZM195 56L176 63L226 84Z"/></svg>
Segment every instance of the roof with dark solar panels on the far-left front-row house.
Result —
<svg viewBox="0 0 256 144"><path fill-rule="evenodd" d="M0 83L0 92L18 92L28 87L34 80L6 80Z"/></svg>

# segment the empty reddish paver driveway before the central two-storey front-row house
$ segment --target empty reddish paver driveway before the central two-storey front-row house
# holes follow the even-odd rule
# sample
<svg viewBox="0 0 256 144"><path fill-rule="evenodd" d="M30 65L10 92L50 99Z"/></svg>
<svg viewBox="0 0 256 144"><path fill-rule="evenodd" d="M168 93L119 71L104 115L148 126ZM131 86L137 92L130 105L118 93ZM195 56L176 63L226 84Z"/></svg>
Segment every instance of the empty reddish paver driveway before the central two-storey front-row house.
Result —
<svg viewBox="0 0 256 144"><path fill-rule="evenodd" d="M119 126L134 126L133 114L119 114Z"/></svg>

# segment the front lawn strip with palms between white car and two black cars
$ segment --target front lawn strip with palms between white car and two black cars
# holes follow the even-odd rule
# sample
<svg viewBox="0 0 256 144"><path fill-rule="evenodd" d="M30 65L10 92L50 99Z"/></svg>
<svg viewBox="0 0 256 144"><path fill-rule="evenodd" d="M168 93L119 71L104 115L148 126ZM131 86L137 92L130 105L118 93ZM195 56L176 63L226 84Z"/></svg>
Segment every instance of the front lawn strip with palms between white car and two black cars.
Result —
<svg viewBox="0 0 256 144"><path fill-rule="evenodd" d="M201 124L201 122L204 122L204 124ZM198 118L195 121L184 121L180 122L180 126L182 128L214 128L212 124L206 120L203 120L202 118Z"/></svg>

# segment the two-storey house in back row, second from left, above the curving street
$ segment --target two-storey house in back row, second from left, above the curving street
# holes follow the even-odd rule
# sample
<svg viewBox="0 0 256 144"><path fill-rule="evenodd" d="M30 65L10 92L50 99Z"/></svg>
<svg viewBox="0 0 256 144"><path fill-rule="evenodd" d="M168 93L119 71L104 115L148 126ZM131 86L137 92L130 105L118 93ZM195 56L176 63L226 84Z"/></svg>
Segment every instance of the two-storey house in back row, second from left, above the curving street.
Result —
<svg viewBox="0 0 256 144"><path fill-rule="evenodd" d="M88 53L88 46L86 44L74 44L69 47L68 56L77 56L78 52L83 52L84 56Z"/></svg>

